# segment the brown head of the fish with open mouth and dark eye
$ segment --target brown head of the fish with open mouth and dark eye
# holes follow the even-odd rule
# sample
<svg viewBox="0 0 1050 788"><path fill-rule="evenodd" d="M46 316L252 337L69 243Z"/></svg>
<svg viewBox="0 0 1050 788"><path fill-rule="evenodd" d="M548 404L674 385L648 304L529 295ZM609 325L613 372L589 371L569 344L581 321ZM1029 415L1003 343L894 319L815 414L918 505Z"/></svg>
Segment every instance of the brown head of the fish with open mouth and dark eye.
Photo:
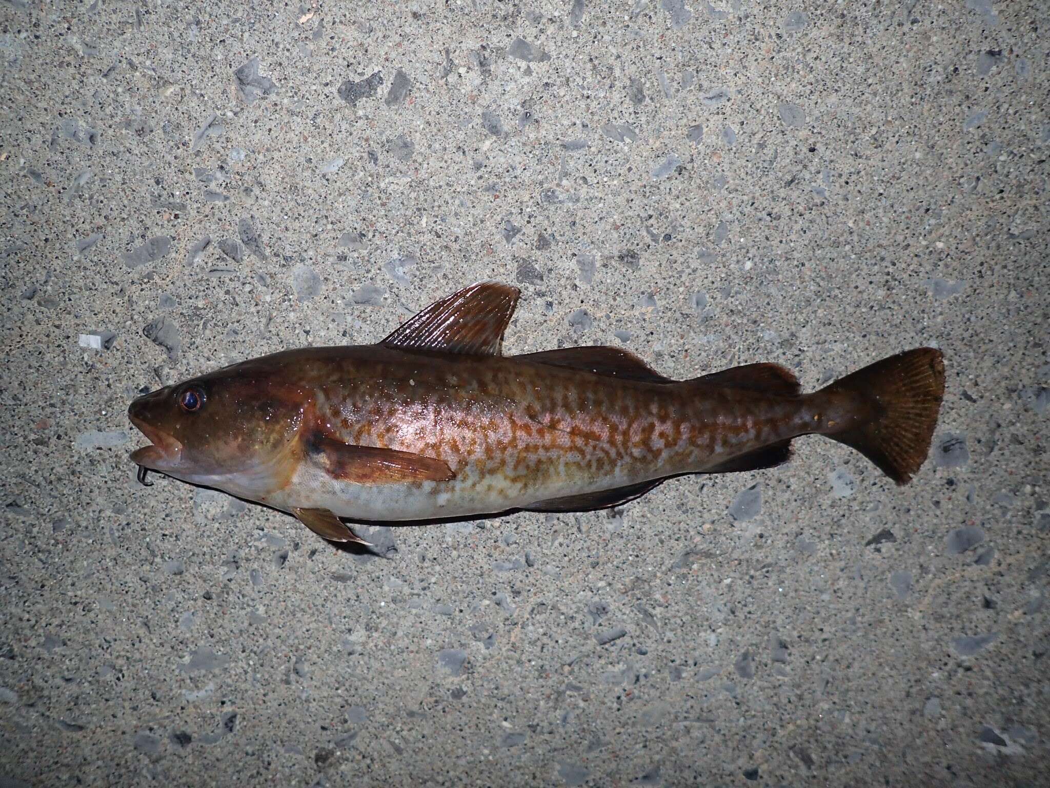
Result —
<svg viewBox="0 0 1050 788"><path fill-rule="evenodd" d="M278 489L309 400L301 387L244 365L166 386L128 408L131 423L150 441L131 460L238 494Z"/></svg>

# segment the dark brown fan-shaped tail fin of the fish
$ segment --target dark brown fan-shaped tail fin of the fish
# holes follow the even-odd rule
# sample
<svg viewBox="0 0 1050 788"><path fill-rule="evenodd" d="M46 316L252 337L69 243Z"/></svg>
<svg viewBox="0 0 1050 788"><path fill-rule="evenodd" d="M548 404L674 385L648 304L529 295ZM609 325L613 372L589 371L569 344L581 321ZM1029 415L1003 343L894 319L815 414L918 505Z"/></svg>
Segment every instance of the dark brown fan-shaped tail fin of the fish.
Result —
<svg viewBox="0 0 1050 788"><path fill-rule="evenodd" d="M848 427L823 434L856 449L898 484L907 484L926 460L937 427L944 397L941 351L918 348L883 358L817 396L847 411L867 411L866 417L846 419Z"/></svg>

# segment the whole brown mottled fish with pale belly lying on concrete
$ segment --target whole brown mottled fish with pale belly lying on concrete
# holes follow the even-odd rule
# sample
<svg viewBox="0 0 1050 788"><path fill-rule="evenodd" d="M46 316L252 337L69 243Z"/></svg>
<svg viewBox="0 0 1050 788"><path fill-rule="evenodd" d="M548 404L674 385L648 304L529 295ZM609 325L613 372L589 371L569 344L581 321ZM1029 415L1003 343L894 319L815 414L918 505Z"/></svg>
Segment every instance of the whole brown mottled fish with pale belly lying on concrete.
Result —
<svg viewBox="0 0 1050 788"><path fill-rule="evenodd" d="M898 484L926 459L944 397L917 348L803 394L758 362L673 380L615 347L503 354L520 292L479 282L375 345L252 358L134 399L131 461L368 544L344 520L419 521L620 506L690 474L786 462L822 435Z"/></svg>

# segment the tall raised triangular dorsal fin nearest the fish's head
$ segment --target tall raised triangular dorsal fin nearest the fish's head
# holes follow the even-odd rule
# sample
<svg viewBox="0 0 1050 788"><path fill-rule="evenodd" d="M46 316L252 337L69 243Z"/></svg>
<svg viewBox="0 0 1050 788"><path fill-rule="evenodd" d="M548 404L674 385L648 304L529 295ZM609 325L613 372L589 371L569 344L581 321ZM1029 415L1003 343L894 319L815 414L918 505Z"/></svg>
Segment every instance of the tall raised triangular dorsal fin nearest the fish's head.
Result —
<svg viewBox="0 0 1050 788"><path fill-rule="evenodd" d="M503 332L514 313L519 290L499 282L478 282L436 300L401 324L380 345L403 350L498 356Z"/></svg>

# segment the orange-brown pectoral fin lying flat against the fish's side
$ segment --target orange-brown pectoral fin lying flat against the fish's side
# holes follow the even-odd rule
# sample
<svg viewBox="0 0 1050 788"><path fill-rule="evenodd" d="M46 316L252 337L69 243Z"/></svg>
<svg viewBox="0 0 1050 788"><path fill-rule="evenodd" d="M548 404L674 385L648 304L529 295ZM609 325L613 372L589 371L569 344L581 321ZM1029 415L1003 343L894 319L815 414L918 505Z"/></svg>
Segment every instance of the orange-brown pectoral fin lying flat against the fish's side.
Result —
<svg viewBox="0 0 1050 788"><path fill-rule="evenodd" d="M321 434L311 436L306 448L332 478L355 484L448 481L456 477L444 460L396 449L343 443Z"/></svg>

